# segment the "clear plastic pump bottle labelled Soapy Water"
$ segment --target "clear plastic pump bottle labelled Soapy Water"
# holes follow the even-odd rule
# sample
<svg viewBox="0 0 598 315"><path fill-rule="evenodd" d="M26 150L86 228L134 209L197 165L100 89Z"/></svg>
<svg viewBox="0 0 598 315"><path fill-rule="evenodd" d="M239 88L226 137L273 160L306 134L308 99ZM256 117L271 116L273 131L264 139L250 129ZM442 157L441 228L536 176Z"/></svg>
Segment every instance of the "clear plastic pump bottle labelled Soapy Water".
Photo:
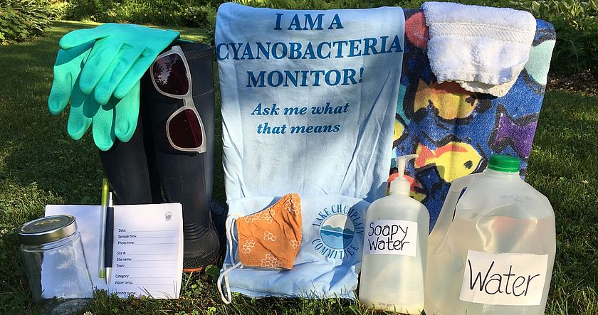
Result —
<svg viewBox="0 0 598 315"><path fill-rule="evenodd" d="M390 183L389 196L374 201L365 218L360 300L367 306L404 314L424 309L424 274L430 215L409 197L404 178L406 161L397 157L399 176Z"/></svg>

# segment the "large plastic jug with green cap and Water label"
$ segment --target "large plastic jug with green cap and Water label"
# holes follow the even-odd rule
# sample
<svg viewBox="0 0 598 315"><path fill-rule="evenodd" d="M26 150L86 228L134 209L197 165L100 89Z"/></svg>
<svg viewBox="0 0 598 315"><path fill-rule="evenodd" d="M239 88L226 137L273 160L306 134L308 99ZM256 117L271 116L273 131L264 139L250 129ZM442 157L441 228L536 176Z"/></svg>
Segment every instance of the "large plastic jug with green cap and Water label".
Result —
<svg viewBox="0 0 598 315"><path fill-rule="evenodd" d="M555 214L519 164L491 156L483 173L451 184L428 240L426 314L544 314Z"/></svg>

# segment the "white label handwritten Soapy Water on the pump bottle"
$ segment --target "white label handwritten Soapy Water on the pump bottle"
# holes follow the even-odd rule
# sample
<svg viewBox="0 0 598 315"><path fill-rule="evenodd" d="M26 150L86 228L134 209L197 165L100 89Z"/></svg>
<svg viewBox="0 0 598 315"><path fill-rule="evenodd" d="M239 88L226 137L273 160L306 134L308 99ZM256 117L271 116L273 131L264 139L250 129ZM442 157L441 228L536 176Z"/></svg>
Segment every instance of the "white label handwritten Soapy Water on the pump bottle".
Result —
<svg viewBox="0 0 598 315"><path fill-rule="evenodd" d="M366 228L364 255L391 254L415 257L417 223L406 220L373 220Z"/></svg>

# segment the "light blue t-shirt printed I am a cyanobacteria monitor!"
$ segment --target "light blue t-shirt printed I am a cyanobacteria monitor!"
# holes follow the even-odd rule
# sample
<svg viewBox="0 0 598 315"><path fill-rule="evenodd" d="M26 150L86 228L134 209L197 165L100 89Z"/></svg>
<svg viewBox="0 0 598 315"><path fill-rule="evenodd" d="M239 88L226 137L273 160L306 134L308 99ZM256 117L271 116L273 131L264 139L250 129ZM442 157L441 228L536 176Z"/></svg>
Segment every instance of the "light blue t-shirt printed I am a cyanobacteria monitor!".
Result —
<svg viewBox="0 0 598 315"><path fill-rule="evenodd" d="M362 220L367 204L384 196L403 39L399 7L293 11L220 6L215 44L230 213L247 215L268 204L256 205L255 198L272 201L298 193L304 218L298 259L309 257L290 271L234 270L229 274L233 291L354 297L362 237L342 242L341 248L328 246L333 250L328 257L318 252L322 247L315 248L322 228L313 221L325 209L326 217L335 214L330 213L335 204L357 205L354 211ZM357 221L347 213L338 215L332 221L352 226L355 233ZM355 252L354 260L340 255L347 248ZM227 257L225 269L230 262ZM291 285L277 279L302 281Z"/></svg>

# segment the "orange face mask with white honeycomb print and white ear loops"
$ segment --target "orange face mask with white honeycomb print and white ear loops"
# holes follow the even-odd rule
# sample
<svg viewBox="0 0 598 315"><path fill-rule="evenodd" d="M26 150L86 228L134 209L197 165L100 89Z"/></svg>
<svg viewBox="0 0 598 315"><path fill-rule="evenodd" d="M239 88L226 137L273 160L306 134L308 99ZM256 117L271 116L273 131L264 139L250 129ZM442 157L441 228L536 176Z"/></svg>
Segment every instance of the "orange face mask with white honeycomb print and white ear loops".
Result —
<svg viewBox="0 0 598 315"><path fill-rule="evenodd" d="M226 237L229 251L232 251L232 220L226 220ZM301 200L296 193L288 193L279 201L252 215L236 218L238 235L238 260L229 252L233 267L226 269L218 279L218 289L222 300L231 303L231 290L228 274L236 267L261 267L293 269L295 257L301 244ZM228 296L222 292L224 279Z"/></svg>

